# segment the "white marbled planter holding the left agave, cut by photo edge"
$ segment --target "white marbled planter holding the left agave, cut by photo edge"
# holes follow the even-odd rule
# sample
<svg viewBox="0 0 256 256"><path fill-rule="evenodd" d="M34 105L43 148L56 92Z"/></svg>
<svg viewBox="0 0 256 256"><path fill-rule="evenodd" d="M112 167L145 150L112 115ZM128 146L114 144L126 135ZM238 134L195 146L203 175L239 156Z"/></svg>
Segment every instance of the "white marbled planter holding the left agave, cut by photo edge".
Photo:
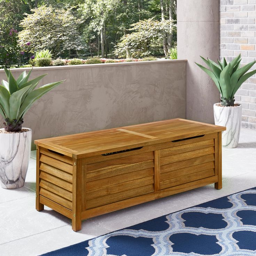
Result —
<svg viewBox="0 0 256 256"><path fill-rule="evenodd" d="M17 189L24 185L31 137L31 129L24 133L0 133L0 183L4 189Z"/></svg>

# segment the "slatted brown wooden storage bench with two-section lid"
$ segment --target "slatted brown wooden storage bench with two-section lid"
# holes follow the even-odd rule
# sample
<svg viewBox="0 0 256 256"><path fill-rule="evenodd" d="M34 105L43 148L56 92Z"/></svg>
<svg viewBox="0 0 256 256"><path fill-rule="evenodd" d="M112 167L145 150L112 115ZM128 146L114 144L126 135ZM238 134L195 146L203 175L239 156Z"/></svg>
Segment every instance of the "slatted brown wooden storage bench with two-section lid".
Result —
<svg viewBox="0 0 256 256"><path fill-rule="evenodd" d="M38 139L36 209L81 221L215 183L225 127L171 119Z"/></svg>

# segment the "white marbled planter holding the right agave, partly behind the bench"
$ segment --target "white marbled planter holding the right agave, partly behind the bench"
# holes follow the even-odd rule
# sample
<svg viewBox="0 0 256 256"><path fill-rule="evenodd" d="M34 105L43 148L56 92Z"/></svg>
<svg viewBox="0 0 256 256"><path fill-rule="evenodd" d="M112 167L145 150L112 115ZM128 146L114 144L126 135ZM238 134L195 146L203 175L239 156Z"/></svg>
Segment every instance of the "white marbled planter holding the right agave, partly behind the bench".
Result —
<svg viewBox="0 0 256 256"><path fill-rule="evenodd" d="M242 119L242 105L233 107L213 105L215 125L225 126L222 132L222 146L237 147Z"/></svg>

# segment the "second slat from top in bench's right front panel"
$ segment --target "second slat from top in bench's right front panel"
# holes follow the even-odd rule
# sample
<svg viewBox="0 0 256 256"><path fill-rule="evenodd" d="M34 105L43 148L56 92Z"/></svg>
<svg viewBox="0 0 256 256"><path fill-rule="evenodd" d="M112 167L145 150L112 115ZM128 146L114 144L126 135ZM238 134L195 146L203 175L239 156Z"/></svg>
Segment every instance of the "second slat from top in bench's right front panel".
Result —
<svg viewBox="0 0 256 256"><path fill-rule="evenodd" d="M209 155L214 153L214 147L206 147L205 149L198 149L194 151L189 151L181 154L170 155L168 157L162 157L160 159L161 165L167 165L168 163L179 162L187 159L192 159L195 157L201 157L203 155Z"/></svg>

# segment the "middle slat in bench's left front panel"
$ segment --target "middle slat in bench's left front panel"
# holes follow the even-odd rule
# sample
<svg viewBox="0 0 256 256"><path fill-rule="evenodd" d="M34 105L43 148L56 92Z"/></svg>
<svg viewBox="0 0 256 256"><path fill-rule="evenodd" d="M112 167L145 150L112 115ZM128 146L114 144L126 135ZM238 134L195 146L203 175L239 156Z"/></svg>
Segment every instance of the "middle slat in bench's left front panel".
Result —
<svg viewBox="0 0 256 256"><path fill-rule="evenodd" d="M154 175L154 168L134 171L133 173L127 173L122 175L117 175L114 177L104 178L104 179L98 179L96 181L87 182L86 184L86 190L94 190L94 189L100 189L102 187L108 187L115 184L120 184L127 181L133 181L135 179L140 179L148 176Z"/></svg>

